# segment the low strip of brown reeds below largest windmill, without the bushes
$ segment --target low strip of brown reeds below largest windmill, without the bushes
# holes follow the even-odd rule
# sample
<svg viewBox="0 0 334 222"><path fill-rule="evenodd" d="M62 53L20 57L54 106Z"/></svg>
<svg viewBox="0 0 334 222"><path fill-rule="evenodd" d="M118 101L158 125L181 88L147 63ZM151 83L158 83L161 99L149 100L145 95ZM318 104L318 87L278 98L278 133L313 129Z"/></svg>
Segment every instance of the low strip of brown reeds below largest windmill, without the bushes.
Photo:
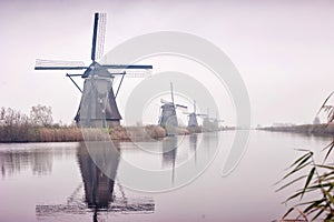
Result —
<svg viewBox="0 0 334 222"><path fill-rule="evenodd" d="M0 127L0 142L75 142L85 140L147 141L166 137L157 125L116 127L112 129L80 129L76 127Z"/></svg>

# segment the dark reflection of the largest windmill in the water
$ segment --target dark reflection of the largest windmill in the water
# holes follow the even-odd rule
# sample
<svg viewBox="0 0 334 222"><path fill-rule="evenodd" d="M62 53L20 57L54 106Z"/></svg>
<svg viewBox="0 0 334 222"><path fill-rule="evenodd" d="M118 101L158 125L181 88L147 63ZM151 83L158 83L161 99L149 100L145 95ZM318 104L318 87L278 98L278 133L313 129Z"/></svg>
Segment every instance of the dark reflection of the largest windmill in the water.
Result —
<svg viewBox="0 0 334 222"><path fill-rule="evenodd" d="M84 181L85 202L79 195L79 191L82 191L79 185L68 198L67 204L37 205L37 215L87 213L87 208L94 212L94 221L97 221L99 211L153 213L155 203L150 198L128 198L121 185L112 180L116 178L119 152L106 142L88 144L87 148L81 143L77 153ZM116 145L118 147L117 143Z"/></svg>

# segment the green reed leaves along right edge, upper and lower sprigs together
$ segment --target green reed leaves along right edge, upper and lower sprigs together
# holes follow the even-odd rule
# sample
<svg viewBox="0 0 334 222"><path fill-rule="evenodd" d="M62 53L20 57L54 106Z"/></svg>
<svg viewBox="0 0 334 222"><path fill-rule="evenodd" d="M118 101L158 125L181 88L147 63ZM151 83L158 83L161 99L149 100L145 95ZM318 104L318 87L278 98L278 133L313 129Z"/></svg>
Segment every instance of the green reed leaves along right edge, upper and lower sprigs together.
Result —
<svg viewBox="0 0 334 222"><path fill-rule="evenodd" d="M334 107L326 104L333 93L320 110L327 113L328 121L328 124L321 127L321 131L328 129L328 125L333 128ZM334 221L333 148L334 140L320 151L299 150L303 154L291 164L277 189L297 188L285 200L284 203L293 204L279 221Z"/></svg>

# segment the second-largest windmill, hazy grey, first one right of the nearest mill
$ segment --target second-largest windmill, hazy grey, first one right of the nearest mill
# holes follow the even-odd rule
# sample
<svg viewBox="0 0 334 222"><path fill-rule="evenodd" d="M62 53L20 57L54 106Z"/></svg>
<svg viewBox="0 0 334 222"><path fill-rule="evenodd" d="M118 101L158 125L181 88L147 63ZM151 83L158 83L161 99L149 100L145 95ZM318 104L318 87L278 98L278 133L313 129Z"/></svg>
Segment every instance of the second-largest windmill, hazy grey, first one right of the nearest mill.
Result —
<svg viewBox="0 0 334 222"><path fill-rule="evenodd" d="M160 102L163 103L161 105L161 114L159 118L159 125L167 128L167 127L174 127L177 128L178 127L178 122L177 122L177 115L176 115L176 108L183 108L183 109L187 109L186 105L181 105L181 104L175 104L174 102L174 92L173 92L173 83L170 82L170 95L171 95L171 102L166 101L164 99L160 100Z"/></svg>

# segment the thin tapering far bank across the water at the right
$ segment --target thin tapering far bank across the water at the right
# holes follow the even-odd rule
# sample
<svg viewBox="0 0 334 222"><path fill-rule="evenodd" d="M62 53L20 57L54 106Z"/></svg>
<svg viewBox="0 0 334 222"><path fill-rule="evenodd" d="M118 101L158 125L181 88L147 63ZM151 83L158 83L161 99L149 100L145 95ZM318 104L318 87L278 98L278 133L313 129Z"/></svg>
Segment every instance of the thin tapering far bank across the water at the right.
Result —
<svg viewBox="0 0 334 222"><path fill-rule="evenodd" d="M266 130L273 132L294 132L314 135L334 135L334 124L303 124L292 127L268 127L259 128L258 130Z"/></svg>

